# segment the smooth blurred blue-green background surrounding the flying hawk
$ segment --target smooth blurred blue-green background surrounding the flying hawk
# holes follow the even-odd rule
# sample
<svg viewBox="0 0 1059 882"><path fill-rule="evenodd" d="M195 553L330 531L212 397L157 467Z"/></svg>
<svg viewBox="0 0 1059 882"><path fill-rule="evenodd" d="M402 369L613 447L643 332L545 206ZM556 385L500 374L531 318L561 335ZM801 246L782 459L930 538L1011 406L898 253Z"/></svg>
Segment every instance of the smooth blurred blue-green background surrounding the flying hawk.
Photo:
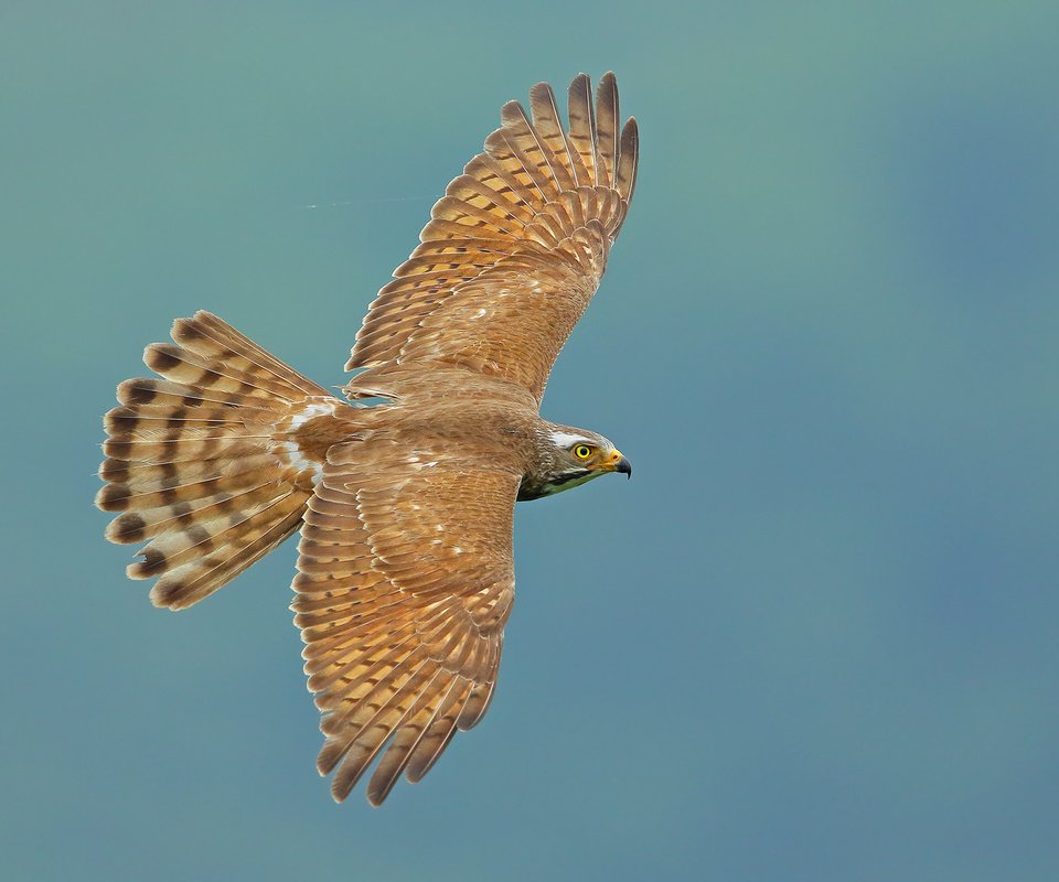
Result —
<svg viewBox="0 0 1059 882"><path fill-rule="evenodd" d="M0 3L8 880L1059 878L1059 6ZM207 308L323 384L432 201L613 68L635 204L495 702L313 768L295 544L178 615L92 507Z"/></svg>

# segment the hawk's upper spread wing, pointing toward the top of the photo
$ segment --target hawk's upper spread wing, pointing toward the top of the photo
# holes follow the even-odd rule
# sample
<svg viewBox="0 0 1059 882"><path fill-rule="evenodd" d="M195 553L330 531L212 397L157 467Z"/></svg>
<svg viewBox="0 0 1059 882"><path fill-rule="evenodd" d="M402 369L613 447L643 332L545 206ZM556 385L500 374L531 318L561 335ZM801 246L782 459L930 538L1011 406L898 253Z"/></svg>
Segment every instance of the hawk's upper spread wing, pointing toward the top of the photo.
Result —
<svg viewBox="0 0 1059 882"><path fill-rule="evenodd" d="M346 369L445 363L499 375L537 401L607 265L637 176L639 137L618 133L613 74L569 89L564 131L546 83L435 204L421 244L372 303Z"/></svg>

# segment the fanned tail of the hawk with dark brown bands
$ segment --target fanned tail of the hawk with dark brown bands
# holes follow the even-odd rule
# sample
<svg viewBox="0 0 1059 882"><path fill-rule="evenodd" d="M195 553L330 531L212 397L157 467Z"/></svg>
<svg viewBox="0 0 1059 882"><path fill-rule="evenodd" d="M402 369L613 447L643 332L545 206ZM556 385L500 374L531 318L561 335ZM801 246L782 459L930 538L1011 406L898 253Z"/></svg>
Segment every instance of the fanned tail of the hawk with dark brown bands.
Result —
<svg viewBox="0 0 1059 882"><path fill-rule="evenodd" d="M180 610L298 529L317 464L288 432L345 405L207 312L172 337L143 354L161 379L118 386L96 505L120 513L110 541L148 542L129 577L157 578L153 603Z"/></svg>

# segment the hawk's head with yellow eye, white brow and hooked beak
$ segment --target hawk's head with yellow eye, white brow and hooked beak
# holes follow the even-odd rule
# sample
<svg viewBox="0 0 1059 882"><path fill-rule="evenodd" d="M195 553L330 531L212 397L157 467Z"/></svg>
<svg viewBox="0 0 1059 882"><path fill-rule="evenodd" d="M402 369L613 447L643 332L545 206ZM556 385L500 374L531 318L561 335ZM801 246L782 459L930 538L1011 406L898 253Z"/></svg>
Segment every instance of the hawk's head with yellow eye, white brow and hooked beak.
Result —
<svg viewBox="0 0 1059 882"><path fill-rule="evenodd" d="M587 429L547 424L541 467L522 482L520 499L536 499L619 472L632 477L632 464L608 439Z"/></svg>

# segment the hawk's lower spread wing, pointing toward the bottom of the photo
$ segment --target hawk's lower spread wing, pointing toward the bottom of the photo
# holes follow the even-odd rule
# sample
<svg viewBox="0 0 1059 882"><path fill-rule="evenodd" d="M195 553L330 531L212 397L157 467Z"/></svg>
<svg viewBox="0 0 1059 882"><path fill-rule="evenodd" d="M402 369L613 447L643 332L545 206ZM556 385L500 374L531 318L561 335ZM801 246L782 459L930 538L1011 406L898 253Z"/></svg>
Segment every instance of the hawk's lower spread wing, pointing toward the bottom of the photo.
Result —
<svg viewBox="0 0 1059 882"><path fill-rule="evenodd" d="M309 503L291 609L327 736L317 761L349 796L419 781L485 713L514 600L520 476L396 441L331 449ZM388 744L388 746L387 746Z"/></svg>

